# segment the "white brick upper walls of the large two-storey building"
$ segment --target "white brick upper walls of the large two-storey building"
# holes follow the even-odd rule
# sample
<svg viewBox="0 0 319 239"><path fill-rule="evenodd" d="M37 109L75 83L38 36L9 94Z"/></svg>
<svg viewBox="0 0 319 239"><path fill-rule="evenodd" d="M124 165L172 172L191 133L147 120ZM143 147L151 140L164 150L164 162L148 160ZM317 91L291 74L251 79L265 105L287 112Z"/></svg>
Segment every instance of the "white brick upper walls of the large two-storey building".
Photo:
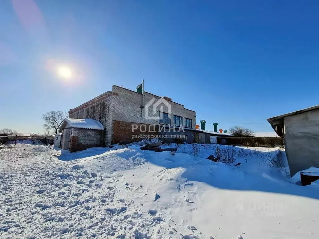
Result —
<svg viewBox="0 0 319 239"><path fill-rule="evenodd" d="M88 106L84 106L81 109L69 114L69 118L83 119L90 118L98 120L104 126L104 141L105 145L109 146L112 141L113 134L113 120L138 122L145 124L158 124L159 120L146 120L145 119L145 107L141 110L142 95L135 91L130 91L122 87L114 85L112 87L113 93L117 95L111 95L108 98L104 98L99 102L88 103ZM106 94L106 93L105 93ZM103 95L103 94L102 94ZM152 95L150 93L144 93L144 105L146 105L152 98L155 98L154 102L157 102L160 97ZM192 120L192 128L195 129L196 124L196 112L185 109L183 105L177 104L172 101L168 101L171 105L171 125L174 125L173 115L183 117L183 125L185 124L185 118ZM164 112L167 111L167 107L164 106ZM150 116L159 116L160 106L157 108L156 113ZM150 113L153 112L153 107L149 109ZM102 134L103 137L103 134Z"/></svg>

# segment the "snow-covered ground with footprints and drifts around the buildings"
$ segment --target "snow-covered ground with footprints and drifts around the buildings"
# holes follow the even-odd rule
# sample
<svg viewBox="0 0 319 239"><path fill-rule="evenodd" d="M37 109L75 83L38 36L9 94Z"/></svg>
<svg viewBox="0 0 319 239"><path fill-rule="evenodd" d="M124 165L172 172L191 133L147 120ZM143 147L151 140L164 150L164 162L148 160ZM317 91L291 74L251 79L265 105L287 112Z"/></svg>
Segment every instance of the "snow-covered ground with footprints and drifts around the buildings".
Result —
<svg viewBox="0 0 319 239"><path fill-rule="evenodd" d="M0 237L318 238L317 184L267 163L284 152L221 145L241 152L226 165L206 159L216 146L198 147L0 149Z"/></svg>

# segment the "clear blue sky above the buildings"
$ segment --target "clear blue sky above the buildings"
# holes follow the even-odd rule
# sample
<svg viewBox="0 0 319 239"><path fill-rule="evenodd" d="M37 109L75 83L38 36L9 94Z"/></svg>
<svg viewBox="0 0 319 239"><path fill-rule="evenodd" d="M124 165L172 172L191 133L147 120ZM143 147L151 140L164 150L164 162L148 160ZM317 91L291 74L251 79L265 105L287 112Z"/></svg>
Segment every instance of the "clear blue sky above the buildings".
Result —
<svg viewBox="0 0 319 239"><path fill-rule="evenodd" d="M43 132L43 113L144 78L145 91L195 110L197 123L271 132L267 118L318 104L318 10L318 1L0 1L0 128Z"/></svg>

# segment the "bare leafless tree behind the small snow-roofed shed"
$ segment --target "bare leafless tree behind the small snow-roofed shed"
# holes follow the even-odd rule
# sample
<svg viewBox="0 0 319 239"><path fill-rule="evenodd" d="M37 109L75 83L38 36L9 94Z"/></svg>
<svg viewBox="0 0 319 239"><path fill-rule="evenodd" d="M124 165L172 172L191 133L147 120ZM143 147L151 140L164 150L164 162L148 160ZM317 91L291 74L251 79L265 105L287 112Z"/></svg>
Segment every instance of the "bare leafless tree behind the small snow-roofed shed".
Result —
<svg viewBox="0 0 319 239"><path fill-rule="evenodd" d="M67 112L51 110L42 115L42 120L45 122L43 127L46 130L53 130L57 134L59 126L68 116Z"/></svg>

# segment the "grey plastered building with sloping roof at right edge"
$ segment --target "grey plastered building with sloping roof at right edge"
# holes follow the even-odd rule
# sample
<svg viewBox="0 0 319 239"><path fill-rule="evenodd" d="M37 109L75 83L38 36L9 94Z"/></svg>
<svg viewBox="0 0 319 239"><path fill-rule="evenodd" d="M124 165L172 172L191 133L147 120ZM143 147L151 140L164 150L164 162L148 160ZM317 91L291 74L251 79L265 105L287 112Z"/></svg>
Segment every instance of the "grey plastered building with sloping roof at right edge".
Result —
<svg viewBox="0 0 319 239"><path fill-rule="evenodd" d="M319 105L267 120L284 138L291 176L311 166L319 167Z"/></svg>

